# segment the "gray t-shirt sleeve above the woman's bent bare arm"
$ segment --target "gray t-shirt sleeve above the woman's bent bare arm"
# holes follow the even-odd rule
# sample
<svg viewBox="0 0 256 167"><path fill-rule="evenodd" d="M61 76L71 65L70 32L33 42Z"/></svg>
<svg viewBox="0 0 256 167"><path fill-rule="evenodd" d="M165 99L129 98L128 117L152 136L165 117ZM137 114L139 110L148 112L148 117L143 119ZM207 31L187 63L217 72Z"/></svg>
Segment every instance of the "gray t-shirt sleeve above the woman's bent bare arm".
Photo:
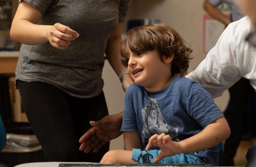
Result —
<svg viewBox="0 0 256 167"><path fill-rule="evenodd" d="M43 15L55 0L19 0L18 3L21 1L29 3Z"/></svg>

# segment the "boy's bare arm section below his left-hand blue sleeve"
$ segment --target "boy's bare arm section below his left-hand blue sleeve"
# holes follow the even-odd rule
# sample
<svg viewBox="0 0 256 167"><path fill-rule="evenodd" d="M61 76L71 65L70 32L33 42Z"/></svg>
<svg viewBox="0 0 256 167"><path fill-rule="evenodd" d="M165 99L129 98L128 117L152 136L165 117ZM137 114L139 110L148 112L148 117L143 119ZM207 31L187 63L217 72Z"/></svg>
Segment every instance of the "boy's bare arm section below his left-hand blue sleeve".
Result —
<svg viewBox="0 0 256 167"><path fill-rule="evenodd" d="M124 131L123 139L125 143L125 150L143 149L141 135L138 131Z"/></svg>

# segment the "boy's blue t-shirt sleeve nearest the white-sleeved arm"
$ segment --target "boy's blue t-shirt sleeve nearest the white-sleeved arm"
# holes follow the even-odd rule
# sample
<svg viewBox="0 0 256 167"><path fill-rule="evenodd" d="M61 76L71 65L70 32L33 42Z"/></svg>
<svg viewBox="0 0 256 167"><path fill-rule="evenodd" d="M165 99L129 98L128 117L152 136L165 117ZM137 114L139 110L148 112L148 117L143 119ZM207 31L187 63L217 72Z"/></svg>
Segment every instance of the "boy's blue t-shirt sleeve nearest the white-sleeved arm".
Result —
<svg viewBox="0 0 256 167"><path fill-rule="evenodd" d="M196 82L191 84L188 92L187 112L203 128L223 116L209 92Z"/></svg>

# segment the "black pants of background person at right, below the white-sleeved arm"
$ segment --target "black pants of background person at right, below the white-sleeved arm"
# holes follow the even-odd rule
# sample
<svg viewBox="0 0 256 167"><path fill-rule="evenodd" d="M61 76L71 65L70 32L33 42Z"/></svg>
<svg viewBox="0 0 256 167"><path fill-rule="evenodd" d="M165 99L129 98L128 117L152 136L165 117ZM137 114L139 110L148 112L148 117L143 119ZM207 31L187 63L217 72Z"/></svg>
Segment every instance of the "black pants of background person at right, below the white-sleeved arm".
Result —
<svg viewBox="0 0 256 167"><path fill-rule="evenodd" d="M254 113L256 108L256 93L253 87L251 87L250 80L241 78L229 88L229 92L230 106L226 109L224 115L230 126L231 134L225 141L224 154L219 160L219 166L234 166L233 158L235 157L244 130L253 130L250 128L252 125L249 125L251 120L246 120L246 111L249 110ZM252 101L251 106L249 106L249 100ZM251 119L253 119L253 117ZM245 128L246 124L247 127Z"/></svg>

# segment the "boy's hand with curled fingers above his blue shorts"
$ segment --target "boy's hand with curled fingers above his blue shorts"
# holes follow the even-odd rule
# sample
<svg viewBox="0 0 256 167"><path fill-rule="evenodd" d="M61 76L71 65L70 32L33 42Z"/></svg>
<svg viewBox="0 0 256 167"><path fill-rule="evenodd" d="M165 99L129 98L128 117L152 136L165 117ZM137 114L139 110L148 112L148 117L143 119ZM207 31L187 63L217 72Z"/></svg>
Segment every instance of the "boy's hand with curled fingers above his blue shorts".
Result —
<svg viewBox="0 0 256 167"><path fill-rule="evenodd" d="M145 150L149 150L152 146L158 146L161 149L161 153L154 158L154 163L157 163L165 157L182 153L179 142L172 141L170 135L167 134L154 134L151 136Z"/></svg>

